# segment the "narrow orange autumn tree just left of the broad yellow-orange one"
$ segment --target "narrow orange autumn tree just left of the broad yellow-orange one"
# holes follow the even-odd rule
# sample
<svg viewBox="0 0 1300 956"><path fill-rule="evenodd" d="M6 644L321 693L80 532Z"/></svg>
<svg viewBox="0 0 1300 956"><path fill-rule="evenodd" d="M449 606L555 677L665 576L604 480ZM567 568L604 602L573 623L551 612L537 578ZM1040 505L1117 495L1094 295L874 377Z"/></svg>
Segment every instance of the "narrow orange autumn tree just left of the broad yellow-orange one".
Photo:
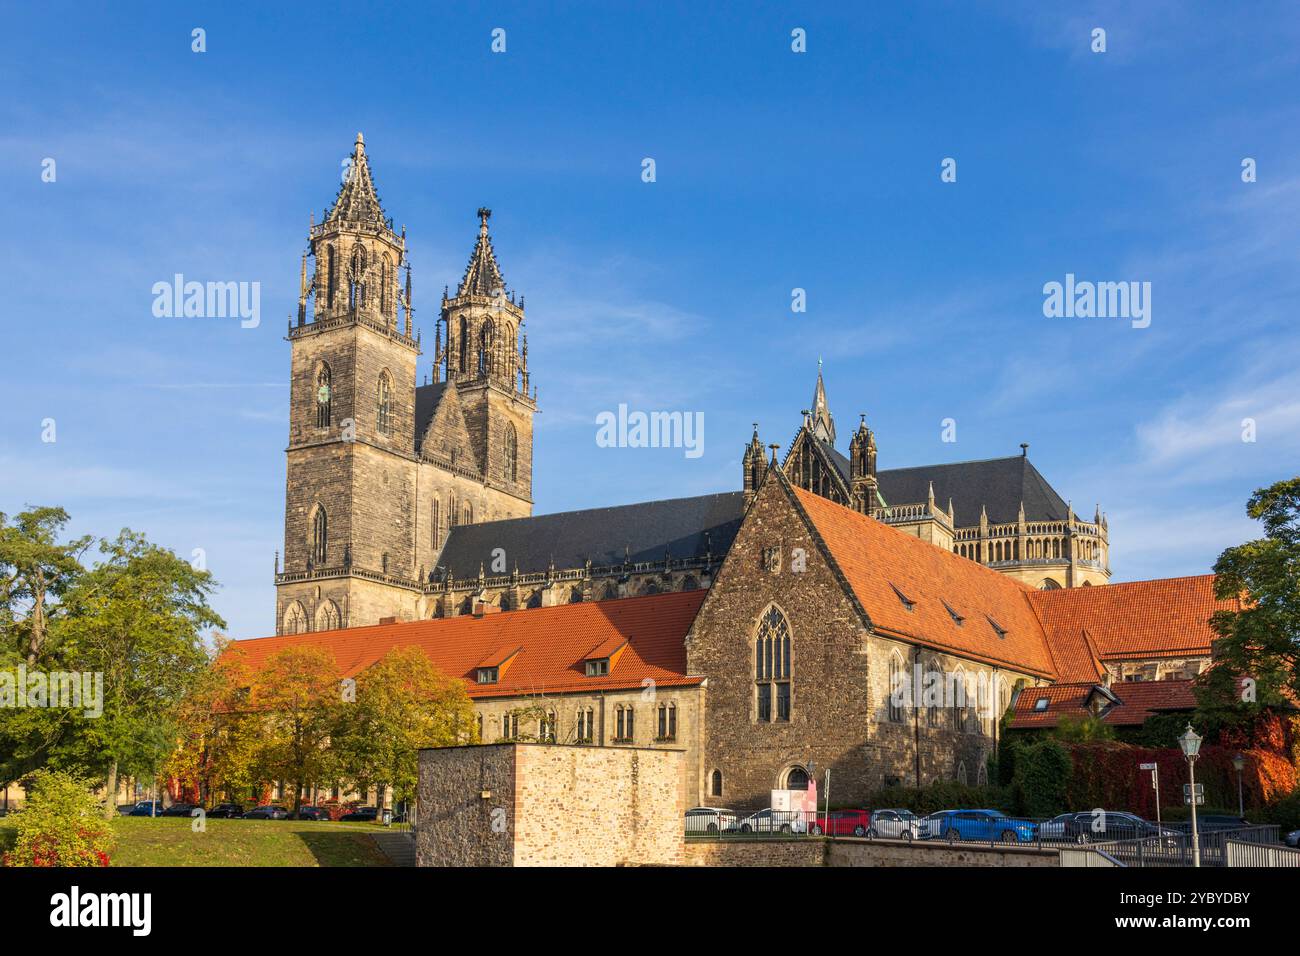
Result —
<svg viewBox="0 0 1300 956"><path fill-rule="evenodd" d="M342 706L334 654L311 645L277 652L257 674L252 706L261 713L264 732L261 779L292 786L296 814L303 787L333 769L330 731Z"/></svg>

